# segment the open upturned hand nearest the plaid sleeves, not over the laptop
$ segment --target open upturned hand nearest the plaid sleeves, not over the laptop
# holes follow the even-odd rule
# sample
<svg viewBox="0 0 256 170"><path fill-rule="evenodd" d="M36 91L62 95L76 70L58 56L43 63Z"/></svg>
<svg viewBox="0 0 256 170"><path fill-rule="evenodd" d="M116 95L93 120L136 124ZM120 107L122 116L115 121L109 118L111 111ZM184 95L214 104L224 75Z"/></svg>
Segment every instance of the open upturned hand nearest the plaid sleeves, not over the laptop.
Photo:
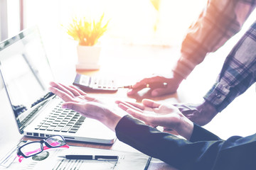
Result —
<svg viewBox="0 0 256 170"><path fill-rule="evenodd" d="M172 105L156 103L149 99L144 99L142 104L125 101L116 101L116 103L124 111L146 124L174 129L186 139L191 137L193 123Z"/></svg>

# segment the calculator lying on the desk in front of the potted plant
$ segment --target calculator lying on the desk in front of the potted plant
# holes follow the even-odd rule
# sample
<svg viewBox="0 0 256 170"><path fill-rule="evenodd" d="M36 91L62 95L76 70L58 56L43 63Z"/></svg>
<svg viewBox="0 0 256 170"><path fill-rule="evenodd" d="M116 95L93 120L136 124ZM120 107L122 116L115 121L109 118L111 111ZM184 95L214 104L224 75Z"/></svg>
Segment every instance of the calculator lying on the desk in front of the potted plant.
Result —
<svg viewBox="0 0 256 170"><path fill-rule="evenodd" d="M73 85L78 86L85 92L114 93L118 90L117 84L113 79L90 77L84 74L76 74Z"/></svg>

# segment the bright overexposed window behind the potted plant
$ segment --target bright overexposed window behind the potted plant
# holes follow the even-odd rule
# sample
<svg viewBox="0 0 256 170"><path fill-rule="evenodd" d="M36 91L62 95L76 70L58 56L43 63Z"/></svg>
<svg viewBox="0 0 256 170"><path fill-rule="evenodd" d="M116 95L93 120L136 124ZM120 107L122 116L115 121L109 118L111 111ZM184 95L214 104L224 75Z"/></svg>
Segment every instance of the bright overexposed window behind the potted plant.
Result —
<svg viewBox="0 0 256 170"><path fill-rule="evenodd" d="M60 33L72 16L110 19L107 35L128 44L175 45L183 38L206 0L24 1L26 26L40 25L49 36ZM158 6L157 8L155 6ZM63 30L62 30L63 31Z"/></svg>

